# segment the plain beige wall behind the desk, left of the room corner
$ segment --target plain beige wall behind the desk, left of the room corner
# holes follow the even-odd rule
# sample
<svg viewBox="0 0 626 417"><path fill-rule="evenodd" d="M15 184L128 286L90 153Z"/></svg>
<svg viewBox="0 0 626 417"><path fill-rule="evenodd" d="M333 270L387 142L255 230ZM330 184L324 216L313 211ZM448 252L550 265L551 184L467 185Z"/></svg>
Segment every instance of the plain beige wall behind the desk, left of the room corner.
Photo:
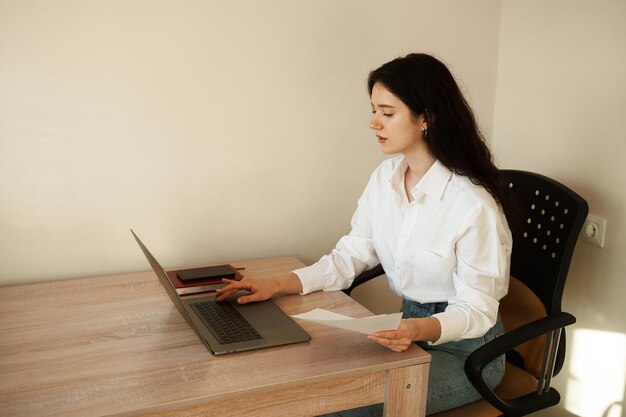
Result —
<svg viewBox="0 0 626 417"><path fill-rule="evenodd" d="M437 54L493 120L500 2L0 0L0 285L293 254L382 159L368 72Z"/></svg>

